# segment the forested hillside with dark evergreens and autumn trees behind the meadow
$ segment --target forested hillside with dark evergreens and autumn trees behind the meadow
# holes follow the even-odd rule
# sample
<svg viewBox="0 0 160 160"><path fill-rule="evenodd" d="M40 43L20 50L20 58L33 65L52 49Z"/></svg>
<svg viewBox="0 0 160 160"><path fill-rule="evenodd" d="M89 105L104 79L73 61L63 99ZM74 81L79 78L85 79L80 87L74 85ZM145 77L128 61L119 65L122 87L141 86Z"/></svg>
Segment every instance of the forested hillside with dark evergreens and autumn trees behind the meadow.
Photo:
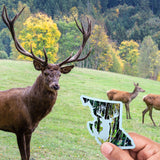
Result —
<svg viewBox="0 0 160 160"><path fill-rule="evenodd" d="M41 18L42 14L45 19L52 18L50 23L57 24L54 28L57 37L54 37L55 49L53 46L47 48L49 57L54 50L55 58L50 59L51 62L61 61L79 47L81 37L73 16L85 25L85 18L89 17L93 33L85 52L91 47L93 50L85 62L77 65L160 80L160 0L1 0L1 12L3 5L10 17L26 6L23 18L20 17L15 25L20 41L26 40L26 48L30 46L27 42L30 37L26 34L32 35L33 31L25 29L31 27L27 18L31 15ZM40 12L42 14L36 15ZM2 19L0 24L0 58L25 59L15 51ZM51 37L50 40L43 38L51 42ZM35 48L38 47L43 48L40 45Z"/></svg>

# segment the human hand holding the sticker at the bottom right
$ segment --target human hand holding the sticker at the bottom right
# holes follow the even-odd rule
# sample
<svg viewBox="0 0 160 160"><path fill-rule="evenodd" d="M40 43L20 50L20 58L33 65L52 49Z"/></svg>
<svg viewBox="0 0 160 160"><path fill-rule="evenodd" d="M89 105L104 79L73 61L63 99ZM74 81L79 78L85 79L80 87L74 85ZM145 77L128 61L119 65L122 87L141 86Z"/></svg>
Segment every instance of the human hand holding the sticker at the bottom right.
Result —
<svg viewBox="0 0 160 160"><path fill-rule="evenodd" d="M135 148L122 150L112 143L101 145L101 152L108 160L160 160L160 144L137 133L129 133Z"/></svg>

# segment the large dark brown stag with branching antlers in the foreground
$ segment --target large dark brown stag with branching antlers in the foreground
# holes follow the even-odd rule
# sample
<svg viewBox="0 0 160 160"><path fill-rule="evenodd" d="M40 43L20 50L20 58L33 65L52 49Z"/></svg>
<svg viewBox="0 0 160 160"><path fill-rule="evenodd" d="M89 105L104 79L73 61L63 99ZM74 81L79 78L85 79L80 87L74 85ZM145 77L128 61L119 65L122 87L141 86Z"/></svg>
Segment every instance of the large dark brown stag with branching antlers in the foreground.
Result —
<svg viewBox="0 0 160 160"><path fill-rule="evenodd" d="M74 65L64 65L83 61L91 53L90 50L84 57L80 58L82 50L91 35L91 21L87 19L88 28L86 31L83 24L81 23L80 27L75 20L76 26L83 35L83 41L78 52L59 64L49 64L45 49L43 49L45 60L43 60L34 55L32 47L30 52L26 51L16 38L14 23L23 9L10 20L4 6L2 19L11 32L16 49L21 54L32 58L35 69L41 71L41 74L32 86L0 91L0 130L12 132L16 135L21 159L29 160L32 133L39 122L51 112L56 102L61 73L69 73L74 67Z"/></svg>

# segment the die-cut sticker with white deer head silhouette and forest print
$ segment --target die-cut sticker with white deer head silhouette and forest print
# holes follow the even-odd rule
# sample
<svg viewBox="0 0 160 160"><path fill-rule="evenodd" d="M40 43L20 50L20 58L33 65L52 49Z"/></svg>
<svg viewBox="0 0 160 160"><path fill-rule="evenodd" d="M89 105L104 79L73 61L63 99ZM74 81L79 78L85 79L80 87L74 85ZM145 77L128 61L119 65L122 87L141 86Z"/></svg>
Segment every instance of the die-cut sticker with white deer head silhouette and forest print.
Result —
<svg viewBox="0 0 160 160"><path fill-rule="evenodd" d="M93 121L87 123L88 130L98 144L111 142L122 149L133 149L135 144L122 128L122 108L119 101L108 101L81 96L84 106L89 106Z"/></svg>

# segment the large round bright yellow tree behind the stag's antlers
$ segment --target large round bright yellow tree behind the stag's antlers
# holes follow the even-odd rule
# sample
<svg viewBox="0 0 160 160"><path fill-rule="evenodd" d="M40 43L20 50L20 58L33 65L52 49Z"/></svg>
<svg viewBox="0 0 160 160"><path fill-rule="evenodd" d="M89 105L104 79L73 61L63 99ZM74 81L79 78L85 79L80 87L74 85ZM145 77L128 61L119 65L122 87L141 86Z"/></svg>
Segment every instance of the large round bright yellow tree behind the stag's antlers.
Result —
<svg viewBox="0 0 160 160"><path fill-rule="evenodd" d="M46 49L48 60L55 63L58 59L58 40L61 36L57 24L46 14L37 13L30 16L23 24L25 28L20 32L19 40L21 45L30 51L32 46L33 53L44 58L43 47ZM30 60L30 58L19 54L18 59Z"/></svg>

